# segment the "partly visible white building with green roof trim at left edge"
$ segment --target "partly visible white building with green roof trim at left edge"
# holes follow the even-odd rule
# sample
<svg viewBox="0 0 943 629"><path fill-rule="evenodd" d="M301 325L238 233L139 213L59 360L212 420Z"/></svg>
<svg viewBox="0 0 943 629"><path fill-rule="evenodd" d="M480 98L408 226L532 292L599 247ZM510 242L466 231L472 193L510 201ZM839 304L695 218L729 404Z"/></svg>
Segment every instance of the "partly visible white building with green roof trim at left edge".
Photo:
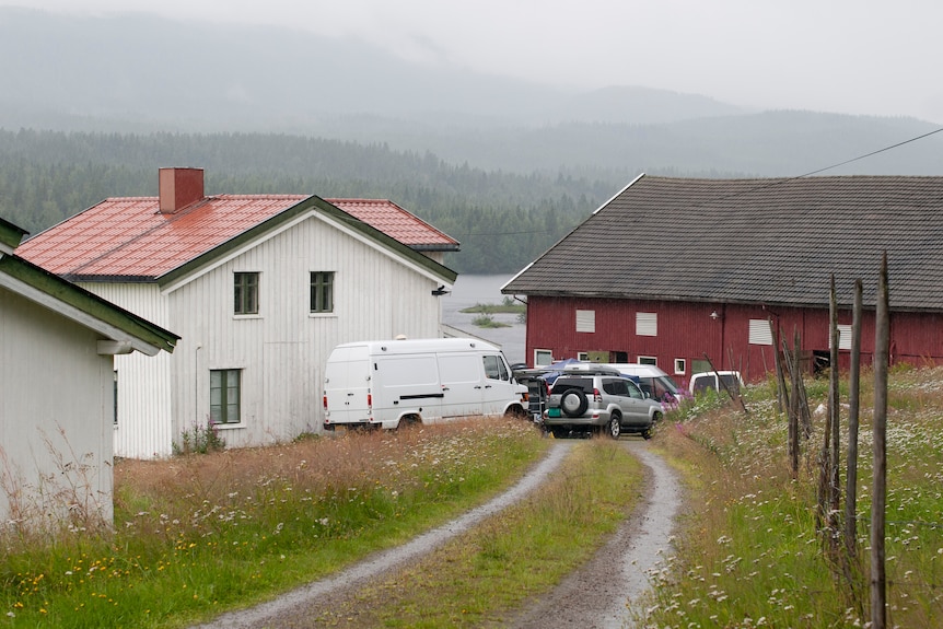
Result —
<svg viewBox="0 0 943 629"><path fill-rule="evenodd" d="M110 524L115 354L178 337L21 258L25 233L0 219L0 527Z"/></svg>

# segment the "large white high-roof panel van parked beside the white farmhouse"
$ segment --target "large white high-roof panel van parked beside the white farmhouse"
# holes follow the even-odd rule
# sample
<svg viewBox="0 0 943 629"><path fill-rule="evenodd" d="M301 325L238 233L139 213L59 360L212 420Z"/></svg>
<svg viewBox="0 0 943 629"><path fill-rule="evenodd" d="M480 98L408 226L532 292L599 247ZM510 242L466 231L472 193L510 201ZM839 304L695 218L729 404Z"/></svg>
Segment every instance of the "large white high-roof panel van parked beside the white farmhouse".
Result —
<svg viewBox="0 0 943 629"><path fill-rule="evenodd" d="M501 350L470 338L339 345L324 372L324 428L397 428L469 416L526 417L527 387Z"/></svg>

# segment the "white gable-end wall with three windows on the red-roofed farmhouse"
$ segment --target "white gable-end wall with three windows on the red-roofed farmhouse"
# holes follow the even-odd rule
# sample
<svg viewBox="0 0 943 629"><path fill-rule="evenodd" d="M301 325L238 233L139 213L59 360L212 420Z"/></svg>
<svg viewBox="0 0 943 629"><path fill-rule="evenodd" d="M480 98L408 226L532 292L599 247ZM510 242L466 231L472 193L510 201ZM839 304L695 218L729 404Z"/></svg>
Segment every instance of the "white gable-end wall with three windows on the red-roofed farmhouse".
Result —
<svg viewBox="0 0 943 629"><path fill-rule="evenodd" d="M259 315L233 316L233 273L259 272ZM310 313L312 271L334 271L331 314ZM338 343L439 336L434 282L387 254L310 219L168 293L174 352L174 434L206 426L209 372L242 370L242 421L220 429L229 446L319 432L323 369ZM196 346L201 348L196 350Z"/></svg>

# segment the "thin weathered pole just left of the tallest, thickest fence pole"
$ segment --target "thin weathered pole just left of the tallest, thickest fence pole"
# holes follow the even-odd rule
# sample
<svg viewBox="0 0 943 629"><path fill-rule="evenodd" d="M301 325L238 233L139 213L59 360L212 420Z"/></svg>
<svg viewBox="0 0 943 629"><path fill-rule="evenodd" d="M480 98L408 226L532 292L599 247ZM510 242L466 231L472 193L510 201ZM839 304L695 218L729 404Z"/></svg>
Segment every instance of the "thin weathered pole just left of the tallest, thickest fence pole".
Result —
<svg viewBox="0 0 943 629"><path fill-rule="evenodd" d="M849 560L858 552L858 410L861 394L861 280L854 280L851 314L851 365L848 370L848 477L845 489L845 548Z"/></svg>

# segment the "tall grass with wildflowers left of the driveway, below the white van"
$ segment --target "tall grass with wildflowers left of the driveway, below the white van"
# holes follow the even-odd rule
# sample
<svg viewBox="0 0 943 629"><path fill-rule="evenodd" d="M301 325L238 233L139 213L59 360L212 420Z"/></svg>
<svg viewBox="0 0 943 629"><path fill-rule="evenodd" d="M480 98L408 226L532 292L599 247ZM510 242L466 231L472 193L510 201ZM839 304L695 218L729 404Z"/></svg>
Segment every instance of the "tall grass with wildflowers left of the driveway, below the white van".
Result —
<svg viewBox="0 0 943 629"><path fill-rule="evenodd" d="M0 539L0 626L182 627L249 605L481 502L546 446L475 420L124 461L114 531Z"/></svg>

